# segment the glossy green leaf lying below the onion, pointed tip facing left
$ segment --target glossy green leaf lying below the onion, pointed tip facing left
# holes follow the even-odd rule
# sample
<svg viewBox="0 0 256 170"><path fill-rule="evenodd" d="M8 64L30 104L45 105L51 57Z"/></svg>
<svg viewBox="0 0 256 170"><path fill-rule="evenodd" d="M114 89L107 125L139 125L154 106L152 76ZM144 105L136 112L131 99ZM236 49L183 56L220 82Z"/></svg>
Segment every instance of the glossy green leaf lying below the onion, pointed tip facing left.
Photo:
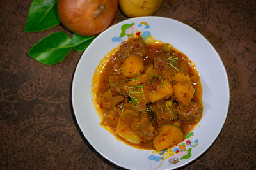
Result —
<svg viewBox="0 0 256 170"><path fill-rule="evenodd" d="M55 32L49 36L45 36L45 38L32 46L27 53L29 57L32 57L38 62L51 65L65 59L73 47L74 44L68 34Z"/></svg>

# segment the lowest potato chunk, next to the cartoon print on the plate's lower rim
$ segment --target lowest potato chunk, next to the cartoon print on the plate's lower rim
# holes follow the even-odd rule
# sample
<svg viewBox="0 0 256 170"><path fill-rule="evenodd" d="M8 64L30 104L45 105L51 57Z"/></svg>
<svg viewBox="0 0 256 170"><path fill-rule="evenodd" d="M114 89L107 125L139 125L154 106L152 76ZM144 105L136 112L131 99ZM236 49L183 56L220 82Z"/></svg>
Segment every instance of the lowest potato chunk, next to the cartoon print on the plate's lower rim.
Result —
<svg viewBox="0 0 256 170"><path fill-rule="evenodd" d="M169 148L171 145L180 143L184 138L183 132L173 125L163 125L161 132L154 139L154 148L157 151Z"/></svg>

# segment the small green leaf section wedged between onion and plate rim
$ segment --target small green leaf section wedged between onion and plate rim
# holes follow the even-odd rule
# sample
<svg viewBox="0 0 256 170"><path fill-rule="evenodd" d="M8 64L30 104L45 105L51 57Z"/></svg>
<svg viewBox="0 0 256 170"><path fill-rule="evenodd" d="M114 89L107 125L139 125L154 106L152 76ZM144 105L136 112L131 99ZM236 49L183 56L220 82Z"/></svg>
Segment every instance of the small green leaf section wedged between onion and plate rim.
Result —
<svg viewBox="0 0 256 170"><path fill-rule="evenodd" d="M73 34L72 41L75 45L74 50L77 52L84 51L96 36L81 36L79 34Z"/></svg>

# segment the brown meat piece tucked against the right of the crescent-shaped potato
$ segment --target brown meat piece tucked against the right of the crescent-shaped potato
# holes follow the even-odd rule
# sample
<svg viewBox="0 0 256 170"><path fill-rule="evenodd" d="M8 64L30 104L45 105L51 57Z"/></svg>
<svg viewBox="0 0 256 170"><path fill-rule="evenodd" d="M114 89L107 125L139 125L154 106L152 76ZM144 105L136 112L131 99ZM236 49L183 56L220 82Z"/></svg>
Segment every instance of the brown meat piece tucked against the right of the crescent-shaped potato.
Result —
<svg viewBox="0 0 256 170"><path fill-rule="evenodd" d="M154 127L145 111L141 113L139 118L132 120L130 127L138 134L140 141L146 142L154 139Z"/></svg>

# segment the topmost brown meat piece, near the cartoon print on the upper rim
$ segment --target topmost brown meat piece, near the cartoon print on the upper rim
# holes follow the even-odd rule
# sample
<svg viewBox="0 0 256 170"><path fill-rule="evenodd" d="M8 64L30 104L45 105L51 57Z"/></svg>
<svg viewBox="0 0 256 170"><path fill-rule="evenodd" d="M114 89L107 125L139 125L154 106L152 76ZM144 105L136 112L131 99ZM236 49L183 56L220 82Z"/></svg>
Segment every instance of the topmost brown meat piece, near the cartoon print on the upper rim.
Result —
<svg viewBox="0 0 256 170"><path fill-rule="evenodd" d="M147 48L141 37L130 39L127 43L122 44L119 50L122 62L124 62L124 60L131 54L140 55L141 57L147 55Z"/></svg>

